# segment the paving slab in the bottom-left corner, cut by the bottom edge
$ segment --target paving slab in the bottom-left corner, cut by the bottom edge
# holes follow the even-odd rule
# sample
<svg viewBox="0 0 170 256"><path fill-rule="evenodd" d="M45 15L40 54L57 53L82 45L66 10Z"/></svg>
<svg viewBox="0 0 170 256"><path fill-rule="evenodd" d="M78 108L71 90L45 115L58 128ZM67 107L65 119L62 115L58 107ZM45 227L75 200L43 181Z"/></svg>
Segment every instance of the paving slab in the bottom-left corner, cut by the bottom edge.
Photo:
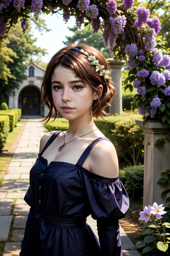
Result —
<svg viewBox="0 0 170 256"><path fill-rule="evenodd" d="M21 243L8 242L5 244L3 256L19 256Z"/></svg>

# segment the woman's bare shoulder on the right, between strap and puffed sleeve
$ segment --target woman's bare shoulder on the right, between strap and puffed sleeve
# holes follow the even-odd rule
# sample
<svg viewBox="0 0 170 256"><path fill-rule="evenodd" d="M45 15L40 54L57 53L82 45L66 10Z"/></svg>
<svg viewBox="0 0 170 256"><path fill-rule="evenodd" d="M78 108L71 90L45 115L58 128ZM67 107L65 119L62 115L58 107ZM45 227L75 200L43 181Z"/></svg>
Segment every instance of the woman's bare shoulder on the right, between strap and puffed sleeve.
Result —
<svg viewBox="0 0 170 256"><path fill-rule="evenodd" d="M100 140L90 152L89 167L91 172L116 178L119 174L119 163L116 149L109 140Z"/></svg>

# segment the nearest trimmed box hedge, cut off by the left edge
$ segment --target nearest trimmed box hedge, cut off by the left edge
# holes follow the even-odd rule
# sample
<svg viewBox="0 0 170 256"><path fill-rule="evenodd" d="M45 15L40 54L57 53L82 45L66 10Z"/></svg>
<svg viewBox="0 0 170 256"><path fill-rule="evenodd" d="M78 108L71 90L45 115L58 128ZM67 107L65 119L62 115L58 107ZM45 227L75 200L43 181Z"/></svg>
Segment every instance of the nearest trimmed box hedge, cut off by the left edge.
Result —
<svg viewBox="0 0 170 256"><path fill-rule="evenodd" d="M6 143L9 129L9 116L0 116L0 152Z"/></svg>

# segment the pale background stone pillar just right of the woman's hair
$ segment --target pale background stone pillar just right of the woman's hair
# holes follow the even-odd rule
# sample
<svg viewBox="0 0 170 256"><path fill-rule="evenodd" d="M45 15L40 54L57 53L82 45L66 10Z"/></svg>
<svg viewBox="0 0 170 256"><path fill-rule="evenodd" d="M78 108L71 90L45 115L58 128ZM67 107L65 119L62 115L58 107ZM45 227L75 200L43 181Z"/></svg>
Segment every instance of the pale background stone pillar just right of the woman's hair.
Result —
<svg viewBox="0 0 170 256"><path fill-rule="evenodd" d="M122 69L124 63L126 63L126 62L124 60L122 60L121 62L116 62L113 58L108 58L107 61L108 61L109 68L111 71L112 81L115 82L116 90L117 90L117 94L115 94L113 99L110 100L110 102L109 102L109 104L111 104L111 106L109 106L109 114L110 115L115 114L115 113L121 114L121 113L123 113L121 69Z"/></svg>

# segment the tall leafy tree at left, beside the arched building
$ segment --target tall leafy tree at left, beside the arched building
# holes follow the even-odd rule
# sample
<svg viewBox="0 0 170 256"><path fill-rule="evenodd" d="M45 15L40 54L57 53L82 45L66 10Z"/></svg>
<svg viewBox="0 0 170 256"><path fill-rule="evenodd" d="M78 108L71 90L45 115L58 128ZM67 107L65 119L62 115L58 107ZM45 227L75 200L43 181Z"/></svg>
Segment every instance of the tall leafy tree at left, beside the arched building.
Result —
<svg viewBox="0 0 170 256"><path fill-rule="evenodd" d="M6 79L1 77L0 79L0 94L4 98L8 97L10 91L19 88L20 83L27 78L25 70L29 59L34 55L41 57L47 53L46 49L34 45L36 39L32 38L30 30L31 26L23 33L20 24L17 23L15 27L10 28L8 39L5 40L8 51L13 51L15 55L11 56L12 61L6 64L11 76L6 77Z"/></svg>

